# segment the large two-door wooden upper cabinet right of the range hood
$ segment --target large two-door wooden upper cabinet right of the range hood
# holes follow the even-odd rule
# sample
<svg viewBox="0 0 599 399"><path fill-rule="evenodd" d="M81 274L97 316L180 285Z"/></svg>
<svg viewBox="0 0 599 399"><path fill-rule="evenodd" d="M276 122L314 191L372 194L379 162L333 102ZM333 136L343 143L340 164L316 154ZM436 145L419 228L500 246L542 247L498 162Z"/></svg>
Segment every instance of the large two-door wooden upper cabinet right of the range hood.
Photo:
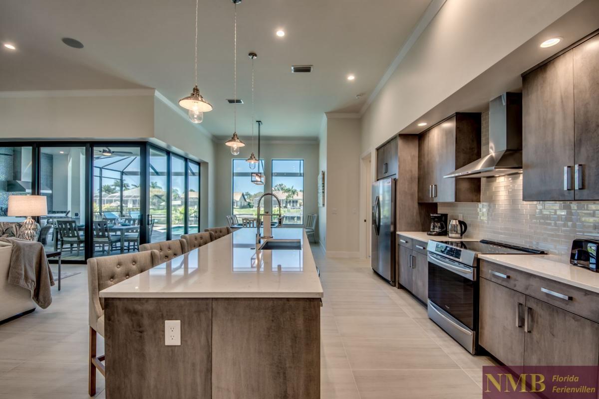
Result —
<svg viewBox="0 0 599 399"><path fill-rule="evenodd" d="M522 197L599 199L599 35L522 77Z"/></svg>

